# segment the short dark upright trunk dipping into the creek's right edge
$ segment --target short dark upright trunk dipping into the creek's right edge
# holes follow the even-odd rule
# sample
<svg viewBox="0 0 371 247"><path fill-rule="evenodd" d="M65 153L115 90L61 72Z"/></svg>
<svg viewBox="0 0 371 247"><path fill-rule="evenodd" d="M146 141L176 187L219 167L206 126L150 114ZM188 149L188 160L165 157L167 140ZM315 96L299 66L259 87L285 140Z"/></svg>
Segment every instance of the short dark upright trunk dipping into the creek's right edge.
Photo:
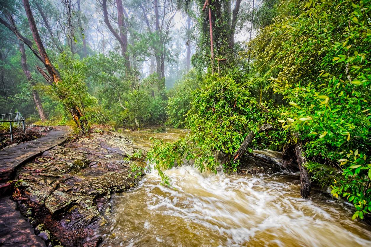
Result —
<svg viewBox="0 0 371 247"><path fill-rule="evenodd" d="M295 144L296 161L300 170L300 194L303 198L308 198L309 191L311 190L311 180L309 178L308 170L306 169L306 158L303 151L303 146L298 134L294 134L297 138Z"/></svg>

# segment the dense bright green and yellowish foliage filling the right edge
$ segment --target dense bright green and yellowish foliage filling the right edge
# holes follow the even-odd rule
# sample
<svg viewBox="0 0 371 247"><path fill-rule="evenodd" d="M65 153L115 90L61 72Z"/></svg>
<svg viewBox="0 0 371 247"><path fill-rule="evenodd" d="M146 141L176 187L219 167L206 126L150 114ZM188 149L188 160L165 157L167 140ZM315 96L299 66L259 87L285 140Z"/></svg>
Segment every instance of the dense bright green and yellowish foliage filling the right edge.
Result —
<svg viewBox="0 0 371 247"><path fill-rule="evenodd" d="M301 133L313 161L343 169L332 193L363 218L371 210L370 1L302 1L287 9L253 41L255 66L282 66L274 79L289 102L280 108L282 127ZM355 149L354 160L343 158Z"/></svg>

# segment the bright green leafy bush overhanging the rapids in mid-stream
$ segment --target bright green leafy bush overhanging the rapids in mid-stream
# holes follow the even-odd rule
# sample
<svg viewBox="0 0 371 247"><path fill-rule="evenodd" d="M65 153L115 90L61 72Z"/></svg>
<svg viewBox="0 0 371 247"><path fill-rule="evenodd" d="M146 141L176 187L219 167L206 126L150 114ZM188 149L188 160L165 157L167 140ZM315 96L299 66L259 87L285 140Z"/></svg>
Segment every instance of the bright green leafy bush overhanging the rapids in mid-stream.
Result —
<svg viewBox="0 0 371 247"><path fill-rule="evenodd" d="M185 119L191 133L175 143L155 140L147 153L164 184L169 180L163 170L182 163L183 158L193 160L200 171L236 171L238 162L232 162L232 155L250 131L273 117L229 74L206 76L191 98Z"/></svg>

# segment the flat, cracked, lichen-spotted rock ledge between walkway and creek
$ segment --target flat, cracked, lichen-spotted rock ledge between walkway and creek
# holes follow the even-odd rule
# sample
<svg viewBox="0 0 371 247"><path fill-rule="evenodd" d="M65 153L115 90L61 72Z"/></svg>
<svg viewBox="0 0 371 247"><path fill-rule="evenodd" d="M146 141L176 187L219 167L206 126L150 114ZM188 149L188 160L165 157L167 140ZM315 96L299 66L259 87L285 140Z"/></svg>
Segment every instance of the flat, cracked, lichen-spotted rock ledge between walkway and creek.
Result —
<svg viewBox="0 0 371 247"><path fill-rule="evenodd" d="M46 246L96 246L115 192L136 186L125 157L137 149L118 133L93 133L25 164L13 200Z"/></svg>

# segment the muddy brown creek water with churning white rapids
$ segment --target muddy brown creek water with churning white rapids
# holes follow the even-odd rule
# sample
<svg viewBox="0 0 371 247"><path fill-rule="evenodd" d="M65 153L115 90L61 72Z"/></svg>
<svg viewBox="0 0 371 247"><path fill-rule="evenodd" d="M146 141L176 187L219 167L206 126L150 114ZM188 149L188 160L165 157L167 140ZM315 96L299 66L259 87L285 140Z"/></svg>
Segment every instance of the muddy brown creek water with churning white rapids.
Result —
<svg viewBox="0 0 371 247"><path fill-rule="evenodd" d="M127 132L173 141L187 130ZM279 162L279 155L260 151ZM371 246L371 228L351 220L352 206L314 187L300 198L298 173L201 174L190 166L166 171L175 189L160 186L156 171L131 191L112 197L100 230L102 246Z"/></svg>

